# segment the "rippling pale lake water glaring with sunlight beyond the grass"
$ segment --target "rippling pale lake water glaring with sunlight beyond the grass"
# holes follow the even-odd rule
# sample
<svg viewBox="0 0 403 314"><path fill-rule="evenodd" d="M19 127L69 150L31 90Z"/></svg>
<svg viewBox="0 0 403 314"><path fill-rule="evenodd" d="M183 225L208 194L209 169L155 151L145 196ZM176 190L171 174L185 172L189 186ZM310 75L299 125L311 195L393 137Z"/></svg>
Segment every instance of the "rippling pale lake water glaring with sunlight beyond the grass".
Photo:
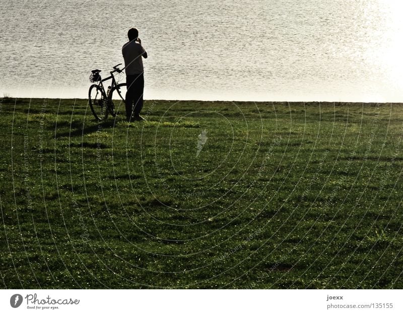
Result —
<svg viewBox="0 0 403 314"><path fill-rule="evenodd" d="M393 0L0 0L0 97L87 98L91 69L149 54L146 99L403 101ZM124 81L124 76L121 76Z"/></svg>

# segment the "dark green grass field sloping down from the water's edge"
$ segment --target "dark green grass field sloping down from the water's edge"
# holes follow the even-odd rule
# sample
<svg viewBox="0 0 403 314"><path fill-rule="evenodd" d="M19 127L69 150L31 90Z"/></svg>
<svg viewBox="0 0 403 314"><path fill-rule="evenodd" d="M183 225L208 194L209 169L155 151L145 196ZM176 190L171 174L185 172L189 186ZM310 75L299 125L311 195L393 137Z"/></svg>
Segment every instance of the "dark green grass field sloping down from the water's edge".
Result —
<svg viewBox="0 0 403 314"><path fill-rule="evenodd" d="M2 99L4 288L403 288L399 104Z"/></svg>

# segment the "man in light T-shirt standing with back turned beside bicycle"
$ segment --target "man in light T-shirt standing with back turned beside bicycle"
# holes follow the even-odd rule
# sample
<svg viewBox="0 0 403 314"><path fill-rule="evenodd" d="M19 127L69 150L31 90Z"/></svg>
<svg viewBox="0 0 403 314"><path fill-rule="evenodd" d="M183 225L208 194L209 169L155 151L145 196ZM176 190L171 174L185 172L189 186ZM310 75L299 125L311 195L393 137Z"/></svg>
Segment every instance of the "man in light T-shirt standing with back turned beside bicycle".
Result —
<svg viewBox="0 0 403 314"><path fill-rule="evenodd" d="M143 58L147 58L147 52L142 46L139 31L136 28L130 28L127 37L129 41L122 47L127 84L126 121L143 121L145 119L140 115L144 93Z"/></svg>

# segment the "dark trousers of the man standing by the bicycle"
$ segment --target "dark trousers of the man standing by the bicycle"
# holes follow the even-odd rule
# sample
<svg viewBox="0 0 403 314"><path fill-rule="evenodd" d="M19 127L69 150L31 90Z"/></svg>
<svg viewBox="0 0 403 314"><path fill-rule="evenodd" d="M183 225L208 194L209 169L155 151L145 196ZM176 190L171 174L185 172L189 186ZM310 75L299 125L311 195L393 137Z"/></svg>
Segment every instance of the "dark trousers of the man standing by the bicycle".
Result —
<svg viewBox="0 0 403 314"><path fill-rule="evenodd" d="M126 117L138 116L143 108L144 74L126 75Z"/></svg>

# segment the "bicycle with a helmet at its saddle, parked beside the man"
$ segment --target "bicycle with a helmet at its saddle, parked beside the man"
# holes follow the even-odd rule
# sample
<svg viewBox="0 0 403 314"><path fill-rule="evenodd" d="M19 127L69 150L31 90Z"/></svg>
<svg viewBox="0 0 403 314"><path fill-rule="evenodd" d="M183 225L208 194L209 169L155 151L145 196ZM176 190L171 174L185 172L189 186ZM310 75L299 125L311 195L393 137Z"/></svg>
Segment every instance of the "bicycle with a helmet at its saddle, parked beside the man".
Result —
<svg viewBox="0 0 403 314"><path fill-rule="evenodd" d="M110 71L110 76L102 79L99 72L101 70L95 69L92 70L92 74L90 75L90 82L94 83L90 86L88 91L88 103L90 105L91 111L97 121L103 121L108 118L108 114L110 113L112 117L116 117L115 104L113 103L113 99L119 101L119 106L123 103L126 97L126 83L118 84L116 82L115 76L113 73L118 72L121 73L123 69L119 69L118 66L121 63L115 65L113 67L113 71ZM112 83L108 86L107 91L105 91L105 87L103 82L112 79ZM117 96L116 96L117 95ZM117 106L117 108L119 108Z"/></svg>

